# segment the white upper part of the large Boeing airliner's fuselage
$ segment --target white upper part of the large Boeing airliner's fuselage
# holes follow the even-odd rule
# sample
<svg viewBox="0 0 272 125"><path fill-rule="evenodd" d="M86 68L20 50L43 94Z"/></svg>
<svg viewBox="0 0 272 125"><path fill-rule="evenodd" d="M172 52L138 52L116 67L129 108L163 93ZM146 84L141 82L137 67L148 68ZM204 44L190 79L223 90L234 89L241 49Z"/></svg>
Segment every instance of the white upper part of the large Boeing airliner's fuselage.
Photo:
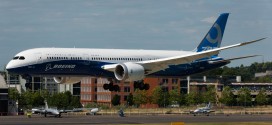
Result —
<svg viewBox="0 0 272 125"><path fill-rule="evenodd" d="M25 59L11 60L7 65L7 68L17 68L61 60L86 60L106 63L139 62L189 53L194 52L127 49L37 48L16 54L15 57L25 57Z"/></svg>

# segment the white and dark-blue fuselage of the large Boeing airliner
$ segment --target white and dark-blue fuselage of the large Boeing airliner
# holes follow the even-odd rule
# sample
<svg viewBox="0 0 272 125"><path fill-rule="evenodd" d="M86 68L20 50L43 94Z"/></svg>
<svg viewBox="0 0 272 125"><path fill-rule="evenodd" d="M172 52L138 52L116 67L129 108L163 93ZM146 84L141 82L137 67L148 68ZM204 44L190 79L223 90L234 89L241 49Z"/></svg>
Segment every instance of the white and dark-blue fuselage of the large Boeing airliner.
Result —
<svg viewBox="0 0 272 125"><path fill-rule="evenodd" d="M195 54L192 51L128 50L128 49L80 49L80 48L36 48L15 55L7 65L9 72L28 75L50 76L99 76L114 77L113 72L102 67L110 64L141 63L168 57ZM216 57L214 59L218 59ZM206 61L190 64L170 65L153 76L184 76L217 68ZM155 66L156 65L152 65ZM205 67L205 68L203 68ZM159 70L158 70L159 71Z"/></svg>

